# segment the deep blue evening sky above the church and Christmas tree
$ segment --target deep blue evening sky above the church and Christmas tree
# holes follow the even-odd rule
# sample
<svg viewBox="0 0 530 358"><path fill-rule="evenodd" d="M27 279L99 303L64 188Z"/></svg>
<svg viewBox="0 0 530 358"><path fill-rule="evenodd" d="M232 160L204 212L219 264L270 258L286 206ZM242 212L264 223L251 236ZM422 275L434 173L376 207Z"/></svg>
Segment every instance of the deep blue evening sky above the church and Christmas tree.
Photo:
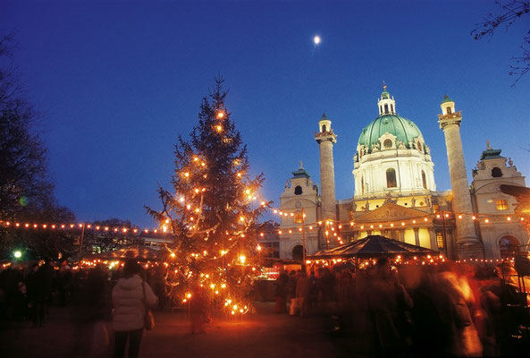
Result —
<svg viewBox="0 0 530 358"><path fill-rule="evenodd" d="M43 114L57 198L80 220L154 226L143 205L157 206L176 137L197 123L218 73L276 205L299 160L318 183L323 112L339 136L337 199L351 198L352 157L383 80L431 147L438 190L450 189L437 124L444 94L462 110L469 180L486 140L530 175L530 76L513 88L508 74L524 20L477 42L470 31L493 1L366 3L4 0L0 30L16 30L14 62Z"/></svg>

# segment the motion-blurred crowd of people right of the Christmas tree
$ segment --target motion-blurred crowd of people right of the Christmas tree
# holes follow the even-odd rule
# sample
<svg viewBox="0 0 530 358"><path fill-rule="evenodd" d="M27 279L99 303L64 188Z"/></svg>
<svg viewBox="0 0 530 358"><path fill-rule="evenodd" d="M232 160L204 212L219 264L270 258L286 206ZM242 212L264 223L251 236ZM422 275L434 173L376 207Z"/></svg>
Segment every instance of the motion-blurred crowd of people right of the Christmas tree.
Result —
<svg viewBox="0 0 530 358"><path fill-rule="evenodd" d="M526 278L513 264L281 270L277 313L324 314L380 356L510 356L528 349ZM525 285L526 283L526 285ZM521 285L522 284L522 285ZM289 306L289 310L287 307Z"/></svg>

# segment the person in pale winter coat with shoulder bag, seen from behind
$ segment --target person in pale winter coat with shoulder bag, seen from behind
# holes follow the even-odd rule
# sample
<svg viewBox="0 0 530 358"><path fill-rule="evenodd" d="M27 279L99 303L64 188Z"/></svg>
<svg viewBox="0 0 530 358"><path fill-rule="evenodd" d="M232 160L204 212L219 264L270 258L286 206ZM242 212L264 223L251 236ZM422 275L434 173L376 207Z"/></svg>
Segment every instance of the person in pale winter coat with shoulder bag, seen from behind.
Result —
<svg viewBox="0 0 530 358"><path fill-rule="evenodd" d="M158 303L158 298L151 287L140 277L141 271L142 268L136 261L125 262L123 277L113 289L114 358L123 357L127 338L129 338L129 357L138 357L144 331L146 304L155 307Z"/></svg>

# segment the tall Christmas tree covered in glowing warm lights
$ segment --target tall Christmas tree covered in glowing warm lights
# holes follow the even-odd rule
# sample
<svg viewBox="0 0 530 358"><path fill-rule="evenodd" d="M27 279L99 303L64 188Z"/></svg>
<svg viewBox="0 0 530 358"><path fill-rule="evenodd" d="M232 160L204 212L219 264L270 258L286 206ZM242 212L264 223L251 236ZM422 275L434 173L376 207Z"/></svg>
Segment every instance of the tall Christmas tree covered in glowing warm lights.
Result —
<svg viewBox="0 0 530 358"><path fill-rule="evenodd" d="M149 214L173 235L168 245L166 287L173 300L211 298L232 314L250 307L259 271L258 223L270 202L261 199L264 175L248 174L247 147L225 106L223 79L203 98L189 141L175 145L173 191L160 187L162 209Z"/></svg>

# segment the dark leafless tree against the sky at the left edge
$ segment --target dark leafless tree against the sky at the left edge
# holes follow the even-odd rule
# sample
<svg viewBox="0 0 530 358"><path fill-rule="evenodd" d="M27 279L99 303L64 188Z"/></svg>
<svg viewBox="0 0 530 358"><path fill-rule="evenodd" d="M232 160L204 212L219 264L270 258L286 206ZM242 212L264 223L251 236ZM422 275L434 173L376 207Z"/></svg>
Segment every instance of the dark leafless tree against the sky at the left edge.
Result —
<svg viewBox="0 0 530 358"><path fill-rule="evenodd" d="M13 34L0 35L0 217L13 220L25 207L49 201L46 147L34 132L38 118L25 98L12 61Z"/></svg>

